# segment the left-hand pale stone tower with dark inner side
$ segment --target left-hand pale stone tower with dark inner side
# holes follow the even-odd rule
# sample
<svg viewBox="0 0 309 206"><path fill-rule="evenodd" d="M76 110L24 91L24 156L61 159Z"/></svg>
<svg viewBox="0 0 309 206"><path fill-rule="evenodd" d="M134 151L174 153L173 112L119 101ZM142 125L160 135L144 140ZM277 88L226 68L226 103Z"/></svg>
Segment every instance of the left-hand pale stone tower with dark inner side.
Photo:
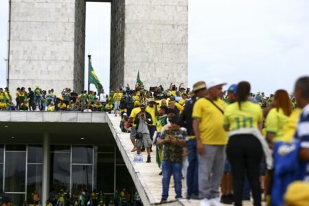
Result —
<svg viewBox="0 0 309 206"><path fill-rule="evenodd" d="M11 2L8 79L12 95L17 87L33 88L35 84L42 89L52 87L58 94L65 87L81 89L84 0Z"/></svg>

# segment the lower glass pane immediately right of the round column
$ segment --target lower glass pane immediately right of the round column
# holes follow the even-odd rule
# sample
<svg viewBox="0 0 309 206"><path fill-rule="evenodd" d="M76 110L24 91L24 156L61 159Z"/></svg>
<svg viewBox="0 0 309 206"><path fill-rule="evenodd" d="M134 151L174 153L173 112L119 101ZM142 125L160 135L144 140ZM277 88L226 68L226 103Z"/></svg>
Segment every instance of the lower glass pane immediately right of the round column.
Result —
<svg viewBox="0 0 309 206"><path fill-rule="evenodd" d="M56 191L67 190L70 186L70 153L50 153L50 187Z"/></svg>

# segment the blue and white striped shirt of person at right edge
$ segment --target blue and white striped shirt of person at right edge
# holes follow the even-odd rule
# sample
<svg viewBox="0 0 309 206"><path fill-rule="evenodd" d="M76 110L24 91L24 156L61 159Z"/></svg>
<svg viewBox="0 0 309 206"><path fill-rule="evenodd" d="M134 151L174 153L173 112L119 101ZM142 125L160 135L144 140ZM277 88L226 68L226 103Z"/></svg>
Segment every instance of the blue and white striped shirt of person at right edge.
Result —
<svg viewBox="0 0 309 206"><path fill-rule="evenodd" d="M300 142L301 148L309 149L309 104L307 104L301 112L294 141ZM307 163L307 171L304 181L309 182L309 163Z"/></svg>

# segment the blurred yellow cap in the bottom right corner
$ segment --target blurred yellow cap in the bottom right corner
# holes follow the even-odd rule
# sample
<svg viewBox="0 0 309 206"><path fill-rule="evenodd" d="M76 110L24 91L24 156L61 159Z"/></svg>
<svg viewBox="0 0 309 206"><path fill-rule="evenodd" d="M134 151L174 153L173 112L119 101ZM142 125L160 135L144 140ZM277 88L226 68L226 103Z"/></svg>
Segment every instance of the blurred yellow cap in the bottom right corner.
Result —
<svg viewBox="0 0 309 206"><path fill-rule="evenodd" d="M309 205L309 183L302 181L290 183L284 201L293 206Z"/></svg>

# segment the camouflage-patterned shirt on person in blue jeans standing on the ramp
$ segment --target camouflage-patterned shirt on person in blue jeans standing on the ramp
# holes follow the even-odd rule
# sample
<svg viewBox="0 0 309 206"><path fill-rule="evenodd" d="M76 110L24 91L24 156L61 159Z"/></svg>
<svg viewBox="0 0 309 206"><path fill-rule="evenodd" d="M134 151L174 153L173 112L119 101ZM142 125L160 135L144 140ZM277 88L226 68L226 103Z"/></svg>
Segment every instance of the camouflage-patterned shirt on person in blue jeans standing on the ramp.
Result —
<svg viewBox="0 0 309 206"><path fill-rule="evenodd" d="M177 140L185 139L187 134L185 131L181 129L172 129L168 128L163 132L161 135L161 139L165 139L165 137L170 136L171 138L174 137ZM183 148L179 146L179 144L172 144L171 142L165 142L163 145L163 161L169 161L174 163L182 163L183 162Z"/></svg>

